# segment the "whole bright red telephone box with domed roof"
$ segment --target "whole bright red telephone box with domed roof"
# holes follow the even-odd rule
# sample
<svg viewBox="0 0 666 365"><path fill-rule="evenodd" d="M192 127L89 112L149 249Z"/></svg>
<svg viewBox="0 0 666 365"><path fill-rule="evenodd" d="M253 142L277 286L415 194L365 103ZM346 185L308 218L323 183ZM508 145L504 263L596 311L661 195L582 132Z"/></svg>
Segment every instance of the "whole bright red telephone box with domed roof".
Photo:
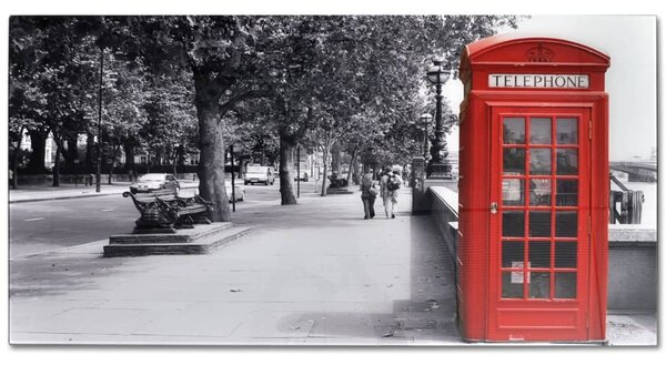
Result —
<svg viewBox="0 0 666 365"><path fill-rule="evenodd" d="M608 55L552 38L468 44L457 300L466 341L605 339Z"/></svg>

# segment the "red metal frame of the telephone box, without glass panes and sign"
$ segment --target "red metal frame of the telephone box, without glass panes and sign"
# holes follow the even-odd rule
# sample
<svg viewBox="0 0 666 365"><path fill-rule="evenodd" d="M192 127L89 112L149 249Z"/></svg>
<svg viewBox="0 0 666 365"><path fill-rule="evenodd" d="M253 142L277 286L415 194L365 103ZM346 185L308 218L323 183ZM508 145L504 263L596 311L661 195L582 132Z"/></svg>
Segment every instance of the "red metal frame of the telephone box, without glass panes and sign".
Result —
<svg viewBox="0 0 666 365"><path fill-rule="evenodd" d="M535 49L548 50L546 62L525 62L525 54ZM544 60L541 60L544 61ZM458 324L467 341L603 341L605 338L606 277L607 277L607 206L608 206L608 97L604 92L605 70L609 59L585 45L547 38L506 39L494 37L467 45L461 62L461 80L465 83L465 100L461 105L461 151L458 187L458 254L457 297ZM488 88L491 73L587 74L585 90ZM555 237L555 216L551 220L553 256L555 241L578 242L577 298L554 300L554 267L528 268L524 272L551 273L548 300L502 300L501 224L502 153L501 118L526 116L525 138L528 140L527 119L535 115L576 116L579 145L578 174L556 178L556 152L552 151L551 204L554 205L556 179L578 179L578 206L529 207L529 211L578 211L577 239ZM588 131L588 128L591 130ZM552 129L554 132L554 129ZM591 138L589 138L591 136ZM557 149L556 135L543 148ZM528 141L521 146L528 151ZM506 145L511 146L511 145ZM516 145L517 146L517 145ZM538 146L538 145L529 145ZM529 153L525 153L526 168ZM524 179L525 202L528 204L529 179ZM491 214L492 202L500 204L497 214ZM512 206L509 210L519 210ZM589 220L589 222L588 222ZM525 214L528 227L528 214ZM589 229L588 229L589 227ZM525 237L505 241L523 241ZM537 241L537 240L533 240ZM528 257L524 245L524 257Z"/></svg>

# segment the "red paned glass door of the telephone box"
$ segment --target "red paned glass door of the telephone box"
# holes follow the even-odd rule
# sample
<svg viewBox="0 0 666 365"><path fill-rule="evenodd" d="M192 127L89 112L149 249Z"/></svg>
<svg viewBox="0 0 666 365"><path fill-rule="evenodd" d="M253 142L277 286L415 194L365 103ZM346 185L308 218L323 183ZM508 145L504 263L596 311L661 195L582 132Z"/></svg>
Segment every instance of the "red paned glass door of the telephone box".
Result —
<svg viewBox="0 0 666 365"><path fill-rule="evenodd" d="M586 339L591 110L492 110L488 339Z"/></svg>

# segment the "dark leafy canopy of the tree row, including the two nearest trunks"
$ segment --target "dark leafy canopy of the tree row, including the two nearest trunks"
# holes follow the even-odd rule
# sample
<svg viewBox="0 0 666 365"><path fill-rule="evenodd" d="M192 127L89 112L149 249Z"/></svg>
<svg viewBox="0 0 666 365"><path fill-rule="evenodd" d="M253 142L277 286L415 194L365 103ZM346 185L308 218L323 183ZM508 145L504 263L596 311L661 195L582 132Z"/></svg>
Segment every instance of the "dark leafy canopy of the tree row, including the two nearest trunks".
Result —
<svg viewBox="0 0 666 365"><path fill-rule="evenodd" d="M51 133L71 159L64 141L97 134L101 87L104 154L114 159L121 145L125 155L196 150L200 193L215 204L214 221L229 221L229 144L279 156L283 204L296 202L297 144L403 162L418 151L413 122L434 109L432 60L455 70L465 44L515 23L511 16L12 17L10 136ZM455 123L445 116L445 128Z"/></svg>

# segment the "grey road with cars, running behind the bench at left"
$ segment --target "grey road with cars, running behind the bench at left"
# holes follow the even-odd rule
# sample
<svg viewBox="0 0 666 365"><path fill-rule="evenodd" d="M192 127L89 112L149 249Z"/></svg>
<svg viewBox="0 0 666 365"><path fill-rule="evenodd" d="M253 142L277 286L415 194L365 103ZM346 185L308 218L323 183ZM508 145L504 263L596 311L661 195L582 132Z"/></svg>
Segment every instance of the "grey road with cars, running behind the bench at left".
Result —
<svg viewBox="0 0 666 365"><path fill-rule="evenodd" d="M279 183L244 187L245 201L236 202L236 212L232 213L234 221L251 221L248 215L252 211L280 205ZM193 192L193 189L183 189L181 195ZM301 192L314 194L314 184L302 182ZM121 195L10 204L9 255L14 258L131 233L138 217L132 201Z"/></svg>

